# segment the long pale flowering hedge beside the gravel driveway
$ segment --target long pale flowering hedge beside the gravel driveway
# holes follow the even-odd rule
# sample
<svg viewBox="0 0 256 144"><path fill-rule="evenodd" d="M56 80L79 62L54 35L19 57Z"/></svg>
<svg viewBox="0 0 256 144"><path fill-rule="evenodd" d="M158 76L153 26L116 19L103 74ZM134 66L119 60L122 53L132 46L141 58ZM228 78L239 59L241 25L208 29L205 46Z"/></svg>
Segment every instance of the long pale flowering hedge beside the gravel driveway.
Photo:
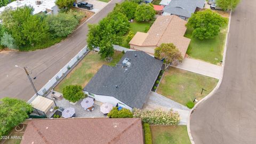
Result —
<svg viewBox="0 0 256 144"><path fill-rule="evenodd" d="M141 110L134 108L133 117L141 118L143 123L154 125L177 125L180 121L180 115L177 111L163 111L162 109Z"/></svg>

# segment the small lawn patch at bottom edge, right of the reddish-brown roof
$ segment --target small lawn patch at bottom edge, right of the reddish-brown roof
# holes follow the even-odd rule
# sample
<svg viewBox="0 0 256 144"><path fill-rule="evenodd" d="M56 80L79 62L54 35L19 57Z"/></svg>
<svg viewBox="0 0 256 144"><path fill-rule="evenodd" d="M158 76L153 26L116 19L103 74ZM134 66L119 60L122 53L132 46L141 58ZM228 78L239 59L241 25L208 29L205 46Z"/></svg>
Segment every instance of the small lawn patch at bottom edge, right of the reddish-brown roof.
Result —
<svg viewBox="0 0 256 144"><path fill-rule="evenodd" d="M153 144L189 144L187 126L151 125Z"/></svg>

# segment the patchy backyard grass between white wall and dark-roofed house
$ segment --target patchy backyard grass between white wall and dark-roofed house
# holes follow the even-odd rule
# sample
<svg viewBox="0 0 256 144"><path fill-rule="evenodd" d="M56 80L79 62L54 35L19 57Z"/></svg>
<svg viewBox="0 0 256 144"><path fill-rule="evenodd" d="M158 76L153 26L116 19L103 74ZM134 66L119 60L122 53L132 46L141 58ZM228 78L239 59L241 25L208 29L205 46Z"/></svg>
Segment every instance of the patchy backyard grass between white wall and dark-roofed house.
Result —
<svg viewBox="0 0 256 144"><path fill-rule="evenodd" d="M95 52L89 52L78 65L54 88L55 91L61 92L67 85L81 85L84 87L97 73L102 65L115 66L122 58L123 53L116 51L113 60L107 62L100 59L100 55Z"/></svg>

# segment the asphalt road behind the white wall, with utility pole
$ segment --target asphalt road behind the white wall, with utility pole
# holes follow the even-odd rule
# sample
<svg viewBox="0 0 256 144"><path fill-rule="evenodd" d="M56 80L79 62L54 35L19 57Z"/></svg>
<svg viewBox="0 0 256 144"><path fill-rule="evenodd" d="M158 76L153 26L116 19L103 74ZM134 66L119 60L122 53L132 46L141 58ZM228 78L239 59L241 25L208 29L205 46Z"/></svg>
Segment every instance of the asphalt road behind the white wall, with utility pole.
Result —
<svg viewBox="0 0 256 144"><path fill-rule="evenodd" d="M99 20L113 10L115 3L122 0L112 0L99 13L76 31L65 41L51 46L44 50L33 52L0 52L0 98L13 97L29 100L35 93L29 83L25 72L20 67L28 67L32 70L31 77L36 77L34 81L37 90L41 89L58 71L66 65L86 45L86 35L88 33L88 23L98 23Z"/></svg>

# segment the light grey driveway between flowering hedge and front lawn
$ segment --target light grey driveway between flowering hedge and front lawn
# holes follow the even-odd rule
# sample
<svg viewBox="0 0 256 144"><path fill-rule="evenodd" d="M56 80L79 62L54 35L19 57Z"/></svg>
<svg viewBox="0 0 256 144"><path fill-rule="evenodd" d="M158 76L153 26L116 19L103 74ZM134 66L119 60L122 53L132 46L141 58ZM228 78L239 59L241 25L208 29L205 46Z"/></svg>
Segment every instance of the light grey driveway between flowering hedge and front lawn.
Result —
<svg viewBox="0 0 256 144"><path fill-rule="evenodd" d="M189 108L181 105L178 102L168 99L161 94L151 91L142 109L154 110L158 108L161 108L165 111L169 111L170 109L173 109L173 111L178 111L180 114L179 125L187 125L188 114L190 111Z"/></svg>

